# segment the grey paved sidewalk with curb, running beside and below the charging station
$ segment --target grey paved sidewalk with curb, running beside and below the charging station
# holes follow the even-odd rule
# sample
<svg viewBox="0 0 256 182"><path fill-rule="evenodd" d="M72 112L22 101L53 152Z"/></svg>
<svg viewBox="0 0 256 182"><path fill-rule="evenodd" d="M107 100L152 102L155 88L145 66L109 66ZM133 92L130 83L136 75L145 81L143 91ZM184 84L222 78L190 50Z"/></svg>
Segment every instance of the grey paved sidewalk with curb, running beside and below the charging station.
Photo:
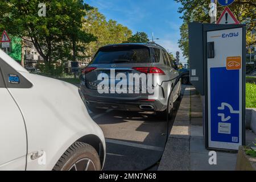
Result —
<svg viewBox="0 0 256 182"><path fill-rule="evenodd" d="M177 111L158 170L235 170L237 154L217 152L217 165L210 165L209 150L203 137L202 101L195 88L188 85ZM246 131L250 138L255 135ZM248 136L249 137L249 136ZM247 139L247 138L246 138Z"/></svg>

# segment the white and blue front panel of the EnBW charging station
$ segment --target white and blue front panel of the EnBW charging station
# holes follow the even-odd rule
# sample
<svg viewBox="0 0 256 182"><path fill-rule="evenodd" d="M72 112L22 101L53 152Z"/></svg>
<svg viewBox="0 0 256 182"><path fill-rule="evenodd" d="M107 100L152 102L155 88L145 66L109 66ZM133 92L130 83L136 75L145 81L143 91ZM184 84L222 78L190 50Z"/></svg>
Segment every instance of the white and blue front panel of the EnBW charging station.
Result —
<svg viewBox="0 0 256 182"><path fill-rule="evenodd" d="M238 150L242 144L243 30L207 32L208 146ZM212 53L210 53L212 52Z"/></svg>

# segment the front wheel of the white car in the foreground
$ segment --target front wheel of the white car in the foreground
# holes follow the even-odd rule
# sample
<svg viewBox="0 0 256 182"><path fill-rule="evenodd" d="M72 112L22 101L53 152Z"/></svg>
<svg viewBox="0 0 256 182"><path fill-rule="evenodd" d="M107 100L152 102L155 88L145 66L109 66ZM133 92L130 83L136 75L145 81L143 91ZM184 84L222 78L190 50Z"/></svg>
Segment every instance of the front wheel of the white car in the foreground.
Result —
<svg viewBox="0 0 256 182"><path fill-rule="evenodd" d="M53 171L100 171L97 151L89 144L75 142L61 156Z"/></svg>

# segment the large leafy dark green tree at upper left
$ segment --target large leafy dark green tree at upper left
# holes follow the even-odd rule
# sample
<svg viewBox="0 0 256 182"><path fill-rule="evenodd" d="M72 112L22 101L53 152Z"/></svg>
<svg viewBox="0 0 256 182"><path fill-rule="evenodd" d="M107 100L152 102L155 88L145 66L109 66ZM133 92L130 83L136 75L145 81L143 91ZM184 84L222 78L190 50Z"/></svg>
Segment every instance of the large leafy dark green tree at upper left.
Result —
<svg viewBox="0 0 256 182"><path fill-rule="evenodd" d="M77 43L89 43L96 39L81 31L82 17L90 7L82 0L46 0L46 16L39 16L40 2L2 0L0 29L23 39L28 38L49 67L58 59L73 57L75 60L80 48Z"/></svg>

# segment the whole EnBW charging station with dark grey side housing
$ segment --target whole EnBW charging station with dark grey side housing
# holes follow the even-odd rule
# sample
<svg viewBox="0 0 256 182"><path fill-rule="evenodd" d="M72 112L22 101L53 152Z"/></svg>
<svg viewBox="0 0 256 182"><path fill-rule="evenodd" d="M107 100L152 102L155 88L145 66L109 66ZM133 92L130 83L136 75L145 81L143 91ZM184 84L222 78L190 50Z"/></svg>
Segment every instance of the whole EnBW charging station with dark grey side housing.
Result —
<svg viewBox="0 0 256 182"><path fill-rule="evenodd" d="M189 23L190 80L203 96L205 147L245 145L246 29L243 24Z"/></svg>

